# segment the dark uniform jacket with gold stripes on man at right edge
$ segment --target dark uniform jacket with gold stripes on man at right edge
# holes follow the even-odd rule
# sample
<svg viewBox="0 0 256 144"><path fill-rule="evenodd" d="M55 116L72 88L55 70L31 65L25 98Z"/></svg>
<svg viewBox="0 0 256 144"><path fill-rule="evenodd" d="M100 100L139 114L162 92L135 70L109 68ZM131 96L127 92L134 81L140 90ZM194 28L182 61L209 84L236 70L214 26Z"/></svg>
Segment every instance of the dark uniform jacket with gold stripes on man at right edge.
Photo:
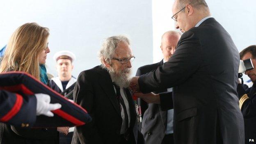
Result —
<svg viewBox="0 0 256 144"><path fill-rule="evenodd" d="M245 121L245 143L249 144L249 139L254 139L256 142L256 84L254 83L250 89L247 89L249 92L246 92L241 84L238 84L237 90Z"/></svg>

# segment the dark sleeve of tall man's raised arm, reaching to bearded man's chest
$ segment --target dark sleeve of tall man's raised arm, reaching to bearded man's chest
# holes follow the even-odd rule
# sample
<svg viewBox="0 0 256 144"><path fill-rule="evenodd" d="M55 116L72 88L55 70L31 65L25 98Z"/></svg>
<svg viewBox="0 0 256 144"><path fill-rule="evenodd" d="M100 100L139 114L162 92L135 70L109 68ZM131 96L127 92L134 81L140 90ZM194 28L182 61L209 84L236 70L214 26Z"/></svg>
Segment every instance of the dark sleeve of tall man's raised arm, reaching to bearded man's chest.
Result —
<svg viewBox="0 0 256 144"><path fill-rule="evenodd" d="M140 91L148 93L182 84L199 68L201 53L200 40L193 32L185 32L168 62L139 77Z"/></svg>

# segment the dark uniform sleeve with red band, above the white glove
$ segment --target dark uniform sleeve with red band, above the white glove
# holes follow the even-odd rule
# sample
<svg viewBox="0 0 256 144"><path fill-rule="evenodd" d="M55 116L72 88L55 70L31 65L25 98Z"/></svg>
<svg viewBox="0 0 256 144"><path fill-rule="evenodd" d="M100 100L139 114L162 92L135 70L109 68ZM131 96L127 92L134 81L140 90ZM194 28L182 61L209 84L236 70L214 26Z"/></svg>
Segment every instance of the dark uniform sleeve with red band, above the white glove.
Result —
<svg viewBox="0 0 256 144"><path fill-rule="evenodd" d="M15 126L30 127L36 121L35 96L0 90L0 121Z"/></svg>

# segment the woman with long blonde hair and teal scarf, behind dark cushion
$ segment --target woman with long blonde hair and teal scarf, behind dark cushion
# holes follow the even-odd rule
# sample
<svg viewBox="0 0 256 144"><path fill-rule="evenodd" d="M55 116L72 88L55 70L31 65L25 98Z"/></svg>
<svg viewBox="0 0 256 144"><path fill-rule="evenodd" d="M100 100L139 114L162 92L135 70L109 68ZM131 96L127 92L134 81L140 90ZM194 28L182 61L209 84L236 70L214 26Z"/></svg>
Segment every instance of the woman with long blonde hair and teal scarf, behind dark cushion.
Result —
<svg viewBox="0 0 256 144"><path fill-rule="evenodd" d="M0 73L7 71L24 71L30 73L44 84L46 74L49 29L37 23L25 23L12 34L5 55L0 65ZM67 134L68 127L57 128ZM58 144L56 128L24 129L8 124L0 125L2 144Z"/></svg>

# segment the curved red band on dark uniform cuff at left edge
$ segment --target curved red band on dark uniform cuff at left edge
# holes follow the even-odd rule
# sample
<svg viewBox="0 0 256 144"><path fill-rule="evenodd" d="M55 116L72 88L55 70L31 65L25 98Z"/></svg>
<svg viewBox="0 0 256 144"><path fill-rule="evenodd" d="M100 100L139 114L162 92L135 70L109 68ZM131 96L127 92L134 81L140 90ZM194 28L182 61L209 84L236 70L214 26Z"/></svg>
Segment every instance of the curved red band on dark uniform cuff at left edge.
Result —
<svg viewBox="0 0 256 144"><path fill-rule="evenodd" d="M9 121L12 117L14 117L20 111L22 103L23 103L22 96L19 94L16 94L16 102L14 103L11 110L7 114L5 114L5 116L3 116L0 119L0 121L2 122Z"/></svg>

